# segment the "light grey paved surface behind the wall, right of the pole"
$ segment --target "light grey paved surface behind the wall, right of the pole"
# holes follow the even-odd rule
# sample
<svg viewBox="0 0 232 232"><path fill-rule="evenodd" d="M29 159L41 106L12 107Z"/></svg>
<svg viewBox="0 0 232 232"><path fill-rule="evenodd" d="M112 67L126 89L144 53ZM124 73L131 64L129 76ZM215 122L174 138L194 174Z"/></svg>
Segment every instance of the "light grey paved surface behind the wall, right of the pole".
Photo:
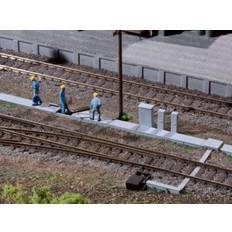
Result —
<svg viewBox="0 0 232 232"><path fill-rule="evenodd" d="M208 48L143 40L128 46L123 59L172 73L231 84L232 34L218 37Z"/></svg>

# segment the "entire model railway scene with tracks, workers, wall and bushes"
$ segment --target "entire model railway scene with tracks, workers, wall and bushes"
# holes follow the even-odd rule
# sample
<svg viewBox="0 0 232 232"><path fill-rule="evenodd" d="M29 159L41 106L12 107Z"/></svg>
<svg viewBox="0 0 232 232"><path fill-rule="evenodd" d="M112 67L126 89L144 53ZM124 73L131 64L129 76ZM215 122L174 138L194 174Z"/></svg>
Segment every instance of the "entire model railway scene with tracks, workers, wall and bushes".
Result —
<svg viewBox="0 0 232 232"><path fill-rule="evenodd" d="M231 202L231 44L231 31L0 31L0 202L41 186L56 203Z"/></svg>

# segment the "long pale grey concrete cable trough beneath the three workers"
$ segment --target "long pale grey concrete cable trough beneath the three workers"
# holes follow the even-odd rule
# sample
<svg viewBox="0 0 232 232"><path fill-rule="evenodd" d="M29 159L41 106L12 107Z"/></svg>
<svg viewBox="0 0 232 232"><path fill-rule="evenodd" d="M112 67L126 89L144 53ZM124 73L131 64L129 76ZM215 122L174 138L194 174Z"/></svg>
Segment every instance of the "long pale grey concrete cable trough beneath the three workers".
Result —
<svg viewBox="0 0 232 232"><path fill-rule="evenodd" d="M115 128L115 129L130 132L132 134L146 136L146 137L155 138L155 139L165 139L168 141L172 141L172 142L179 143L179 144L184 144L187 146L220 150L220 148L223 145L223 141L220 141L220 140L215 140L211 138L202 139L202 138L197 138L197 137L184 135L180 133L173 133L173 132L166 131L166 130L158 130L153 127L144 127L144 126L141 127L139 124L120 121L117 119L113 120L110 118L102 117L102 121L100 122L93 121L89 119L88 111L75 113L71 116L64 115L64 114L58 114L58 113L55 113L58 107L46 106L46 105L32 106L32 101L29 99L12 96L12 95L5 94L5 93L0 93L0 101L18 104L18 105L22 105L22 106L25 106L31 109L36 109L36 110L41 110L47 113L56 114L59 117L66 117L66 118L69 118L70 120L77 120L77 121L82 121L86 123L94 123L94 124L97 124L103 127ZM225 145L224 145L224 150L228 150L228 147L225 147Z"/></svg>

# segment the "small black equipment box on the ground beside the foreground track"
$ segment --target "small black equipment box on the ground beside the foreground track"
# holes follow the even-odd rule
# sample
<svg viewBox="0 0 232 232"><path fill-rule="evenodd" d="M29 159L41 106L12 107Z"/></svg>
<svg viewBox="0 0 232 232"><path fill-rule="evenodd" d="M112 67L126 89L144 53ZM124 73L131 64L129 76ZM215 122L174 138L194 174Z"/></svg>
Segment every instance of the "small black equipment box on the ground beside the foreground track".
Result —
<svg viewBox="0 0 232 232"><path fill-rule="evenodd" d="M126 188L128 190L146 190L146 181L151 179L151 174L137 171L130 176L126 181Z"/></svg>

